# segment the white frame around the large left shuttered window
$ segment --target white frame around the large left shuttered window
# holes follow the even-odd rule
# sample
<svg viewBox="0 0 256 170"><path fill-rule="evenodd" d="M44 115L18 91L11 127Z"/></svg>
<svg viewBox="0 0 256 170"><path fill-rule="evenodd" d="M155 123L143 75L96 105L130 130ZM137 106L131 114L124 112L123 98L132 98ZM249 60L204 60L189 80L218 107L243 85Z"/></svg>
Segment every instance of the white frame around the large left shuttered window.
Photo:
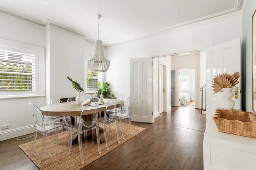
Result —
<svg viewBox="0 0 256 170"><path fill-rule="evenodd" d="M45 96L45 49L0 38L0 48L35 53L35 91L0 92L0 99Z"/></svg>

